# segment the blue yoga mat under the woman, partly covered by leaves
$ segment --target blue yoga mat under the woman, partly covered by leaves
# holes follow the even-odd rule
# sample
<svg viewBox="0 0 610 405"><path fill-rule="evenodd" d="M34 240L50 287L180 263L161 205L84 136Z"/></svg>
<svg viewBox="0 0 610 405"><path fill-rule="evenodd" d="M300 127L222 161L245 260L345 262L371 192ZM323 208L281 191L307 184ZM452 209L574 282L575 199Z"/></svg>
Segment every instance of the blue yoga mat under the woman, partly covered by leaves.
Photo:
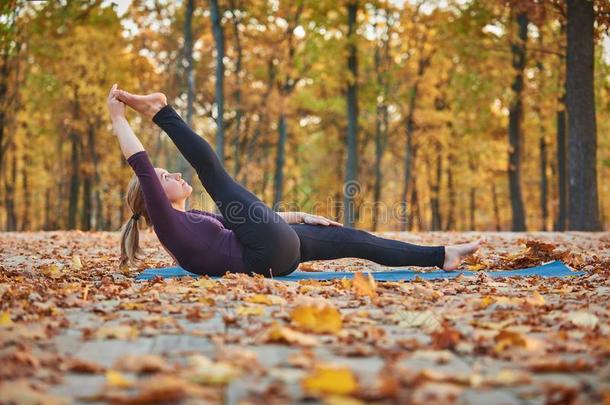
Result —
<svg viewBox="0 0 610 405"><path fill-rule="evenodd" d="M429 273L422 273L413 270L393 270L393 271L372 271L371 274L377 281L410 281L416 277L420 277L425 280L439 280L439 279L450 279L463 274L465 276L474 276L476 271L450 271L446 272L443 270L432 271ZM517 276L541 276L541 277L566 277L566 276L580 276L584 274L582 271L572 271L565 264L559 260L543 264L542 266L530 267L527 269L518 270L501 270L501 271L488 271L487 274L493 278L497 277L517 277ZM198 274L190 273L181 267L165 267L159 269L146 269L142 273L138 274L136 280L150 280L156 276L163 278L171 277L199 277ZM354 276L353 272L347 271L321 271L321 272L309 272L309 271L295 271L287 276L274 277L275 280L282 281L298 281L298 280L335 280L341 278L351 279ZM212 277L218 278L218 277Z"/></svg>

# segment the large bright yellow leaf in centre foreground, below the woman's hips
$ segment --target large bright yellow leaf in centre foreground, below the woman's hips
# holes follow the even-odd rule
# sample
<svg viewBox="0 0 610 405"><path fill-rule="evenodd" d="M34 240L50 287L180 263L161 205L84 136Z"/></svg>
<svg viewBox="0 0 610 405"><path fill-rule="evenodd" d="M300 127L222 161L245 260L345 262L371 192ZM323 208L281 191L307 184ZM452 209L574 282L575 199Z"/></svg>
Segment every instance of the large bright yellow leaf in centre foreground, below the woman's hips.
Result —
<svg viewBox="0 0 610 405"><path fill-rule="evenodd" d="M297 329L306 332L338 333L342 327L341 313L332 305L297 305L290 317Z"/></svg>

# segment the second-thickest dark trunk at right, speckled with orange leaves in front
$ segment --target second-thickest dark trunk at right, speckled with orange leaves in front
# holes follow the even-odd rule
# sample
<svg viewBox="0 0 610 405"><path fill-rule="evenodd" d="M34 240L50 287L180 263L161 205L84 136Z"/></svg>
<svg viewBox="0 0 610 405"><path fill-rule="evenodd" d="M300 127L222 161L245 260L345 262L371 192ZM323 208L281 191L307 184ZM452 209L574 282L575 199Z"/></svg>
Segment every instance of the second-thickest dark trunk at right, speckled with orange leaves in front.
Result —
<svg viewBox="0 0 610 405"><path fill-rule="evenodd" d="M510 105L508 117L508 181L510 187L510 202L513 217L513 231L522 232L526 230L525 207L521 195L521 144L522 144L522 121L523 121L523 71L525 70L525 44L527 42L528 19L525 13L517 15L519 35L517 42L511 44L513 55L513 68L515 78L512 89L513 100Z"/></svg>

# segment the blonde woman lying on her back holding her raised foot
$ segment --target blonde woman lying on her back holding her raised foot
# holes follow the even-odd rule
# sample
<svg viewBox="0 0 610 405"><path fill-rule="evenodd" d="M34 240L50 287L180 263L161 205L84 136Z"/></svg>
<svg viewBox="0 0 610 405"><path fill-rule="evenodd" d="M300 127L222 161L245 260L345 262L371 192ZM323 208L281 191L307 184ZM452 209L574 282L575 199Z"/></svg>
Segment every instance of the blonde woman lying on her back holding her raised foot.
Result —
<svg viewBox="0 0 610 405"><path fill-rule="evenodd" d="M185 210L192 187L180 176L154 168L125 119L125 105L161 127L193 166L222 215ZM152 225L159 241L184 269L208 275L227 271L283 276L310 260L357 257L387 266L438 266L455 269L481 241L453 246L418 246L342 227L301 212L274 212L237 183L216 153L195 134L161 93L146 96L118 90L108 95L114 133L136 176L127 190L133 212L121 238L121 264L138 251L137 221Z"/></svg>

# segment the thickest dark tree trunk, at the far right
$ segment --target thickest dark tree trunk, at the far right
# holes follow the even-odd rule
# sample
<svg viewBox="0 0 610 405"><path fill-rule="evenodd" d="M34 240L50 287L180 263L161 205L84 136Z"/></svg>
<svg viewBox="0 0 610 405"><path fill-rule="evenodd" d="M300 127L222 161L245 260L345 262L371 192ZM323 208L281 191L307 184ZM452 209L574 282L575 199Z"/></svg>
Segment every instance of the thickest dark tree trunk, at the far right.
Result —
<svg viewBox="0 0 610 405"><path fill-rule="evenodd" d="M594 9L591 0L567 0L568 225L600 231L594 92Z"/></svg>

